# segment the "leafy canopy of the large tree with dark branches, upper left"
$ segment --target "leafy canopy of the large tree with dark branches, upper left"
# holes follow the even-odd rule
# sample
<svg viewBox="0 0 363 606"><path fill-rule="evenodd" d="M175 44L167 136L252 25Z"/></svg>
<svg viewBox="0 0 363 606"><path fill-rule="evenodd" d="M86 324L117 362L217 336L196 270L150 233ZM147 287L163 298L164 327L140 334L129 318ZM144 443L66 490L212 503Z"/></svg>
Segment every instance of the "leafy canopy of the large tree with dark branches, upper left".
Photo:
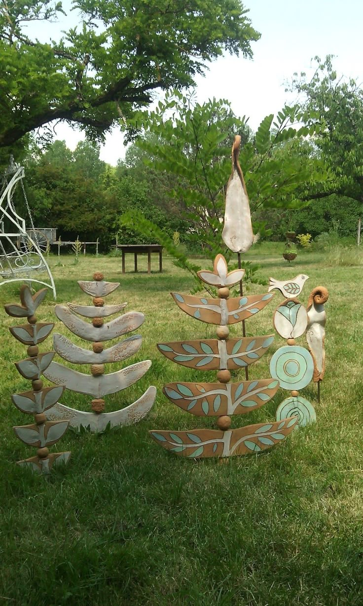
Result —
<svg viewBox="0 0 363 606"><path fill-rule="evenodd" d="M223 51L251 57L260 38L240 0L73 0L79 25L59 41L29 38L54 21L57 0L0 4L0 147L54 120L102 138L151 102L152 90L188 87Z"/></svg>

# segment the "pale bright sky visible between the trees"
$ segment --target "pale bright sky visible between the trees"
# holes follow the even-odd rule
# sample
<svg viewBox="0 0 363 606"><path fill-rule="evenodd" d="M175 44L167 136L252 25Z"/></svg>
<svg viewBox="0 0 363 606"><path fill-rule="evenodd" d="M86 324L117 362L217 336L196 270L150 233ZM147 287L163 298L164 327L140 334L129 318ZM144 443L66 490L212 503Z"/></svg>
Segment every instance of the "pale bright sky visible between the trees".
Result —
<svg viewBox="0 0 363 606"><path fill-rule="evenodd" d="M261 39L252 44L253 60L226 55L210 64L206 77L197 79L199 102L228 99L238 116L249 116L255 130L264 116L293 102L285 84L294 72L309 73L315 55L335 55L338 74L363 82L362 0L245 0L244 5L250 9L253 27L261 33ZM65 26L66 22L52 25L51 35L55 38ZM46 28L39 35L38 24L36 35L49 39ZM62 124L56 135L71 149L83 138ZM107 136L100 157L115 165L123 156L123 137L115 129Z"/></svg>

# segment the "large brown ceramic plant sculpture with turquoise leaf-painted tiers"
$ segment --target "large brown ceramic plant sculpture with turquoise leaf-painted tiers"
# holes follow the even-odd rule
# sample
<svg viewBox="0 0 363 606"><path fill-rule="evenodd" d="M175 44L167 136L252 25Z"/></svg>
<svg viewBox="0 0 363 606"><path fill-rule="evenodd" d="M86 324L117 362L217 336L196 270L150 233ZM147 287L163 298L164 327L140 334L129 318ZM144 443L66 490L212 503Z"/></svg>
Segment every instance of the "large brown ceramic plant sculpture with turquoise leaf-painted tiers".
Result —
<svg viewBox="0 0 363 606"><path fill-rule="evenodd" d="M199 271L199 277L218 287L218 299L204 299L171 293L181 310L207 324L217 324L217 339L196 339L160 343L159 351L169 360L189 368L217 370L217 382L169 383L163 393L171 402L195 416L217 417L218 430L151 431L154 440L167 450L189 458L228 457L270 448L283 441L297 419L258 423L231 430L230 415L243 415L260 408L275 395L279 382L272 379L231 383L230 370L239 370L263 356L273 335L229 339L229 324L254 316L271 299L272 293L229 299L228 286L244 270L228 273L226 260L218 255L214 271ZM228 285L228 286L227 286Z"/></svg>

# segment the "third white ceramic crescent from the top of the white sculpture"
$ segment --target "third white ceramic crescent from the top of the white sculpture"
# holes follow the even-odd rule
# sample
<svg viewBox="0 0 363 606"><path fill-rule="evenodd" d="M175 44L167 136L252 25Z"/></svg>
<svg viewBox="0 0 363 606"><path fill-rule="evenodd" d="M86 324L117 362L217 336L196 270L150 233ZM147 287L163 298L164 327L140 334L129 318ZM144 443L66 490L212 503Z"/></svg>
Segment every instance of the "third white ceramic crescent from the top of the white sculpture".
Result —
<svg viewBox="0 0 363 606"><path fill-rule="evenodd" d="M57 318L74 335L85 339L85 341L110 341L110 339L116 339L117 337L126 335L126 333L131 333L132 330L136 330L145 320L145 316L140 311L128 311L128 313L108 322L108 324L94 327L93 324L88 324L88 322L75 316L70 308L65 305L56 305L54 311Z"/></svg>

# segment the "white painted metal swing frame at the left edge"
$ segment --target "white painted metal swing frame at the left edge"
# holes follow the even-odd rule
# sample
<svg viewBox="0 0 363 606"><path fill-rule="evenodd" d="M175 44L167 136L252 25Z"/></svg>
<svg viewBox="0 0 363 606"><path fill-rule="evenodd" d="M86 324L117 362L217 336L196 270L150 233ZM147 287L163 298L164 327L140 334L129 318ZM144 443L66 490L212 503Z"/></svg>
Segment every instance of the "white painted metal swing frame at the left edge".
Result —
<svg viewBox="0 0 363 606"><path fill-rule="evenodd" d="M56 287L54 285L53 276L51 275L50 268L39 247L39 243L27 233L25 219L18 215L13 205L13 193L16 184L20 181L22 185L24 174L24 167L15 164L11 158L9 168L5 171L4 179L10 175L13 176L6 184L4 191L0 196L0 277L2 278L0 286L9 284L10 282L36 282L36 284L43 284L50 288L53 291L55 299ZM28 207L26 196L25 202ZM32 224L31 227L34 231L29 207L28 212ZM11 233L4 230L4 217L6 217L15 228ZM16 242L19 241L19 238L21 238L21 241L25 244L24 250L19 250L16 244ZM4 244L7 245L10 252L5 250ZM47 273L48 281L45 282L38 278L30 277L36 271Z"/></svg>

